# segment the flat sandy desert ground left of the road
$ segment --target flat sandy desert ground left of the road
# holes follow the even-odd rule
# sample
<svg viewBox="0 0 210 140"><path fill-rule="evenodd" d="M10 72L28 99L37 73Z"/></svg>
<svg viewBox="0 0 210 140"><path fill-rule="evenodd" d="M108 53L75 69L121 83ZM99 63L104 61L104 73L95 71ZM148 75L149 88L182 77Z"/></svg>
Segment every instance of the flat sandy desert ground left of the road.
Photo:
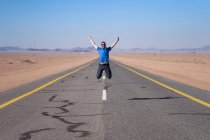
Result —
<svg viewBox="0 0 210 140"><path fill-rule="evenodd" d="M96 53L0 53L0 92L79 66Z"/></svg>

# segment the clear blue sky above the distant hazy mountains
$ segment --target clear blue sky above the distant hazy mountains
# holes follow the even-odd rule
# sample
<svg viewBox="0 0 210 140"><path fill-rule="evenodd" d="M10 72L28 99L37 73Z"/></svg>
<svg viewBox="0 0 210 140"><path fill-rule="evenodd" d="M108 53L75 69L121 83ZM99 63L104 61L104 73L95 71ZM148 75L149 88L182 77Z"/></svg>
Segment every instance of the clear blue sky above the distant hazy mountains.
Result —
<svg viewBox="0 0 210 140"><path fill-rule="evenodd" d="M0 46L120 48L210 44L210 0L0 0Z"/></svg>

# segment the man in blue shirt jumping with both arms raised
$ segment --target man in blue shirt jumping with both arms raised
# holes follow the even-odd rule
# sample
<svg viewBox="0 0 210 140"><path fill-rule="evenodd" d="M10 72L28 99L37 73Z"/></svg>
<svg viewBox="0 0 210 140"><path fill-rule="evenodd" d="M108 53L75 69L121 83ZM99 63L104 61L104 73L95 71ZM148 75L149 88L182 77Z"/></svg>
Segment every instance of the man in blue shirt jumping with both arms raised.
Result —
<svg viewBox="0 0 210 140"><path fill-rule="evenodd" d="M89 40L90 40L91 44L93 45L93 47L97 49L98 54L99 54L99 66L98 66L96 78L100 79L103 71L105 71L106 77L108 79L111 79L112 72L109 67L109 52L117 44L117 42L119 41L119 37L117 38L116 42L113 43L110 47L106 47L106 42L104 42L104 41L101 42L101 47L98 47L95 44L95 42L92 40L91 36L89 36Z"/></svg>

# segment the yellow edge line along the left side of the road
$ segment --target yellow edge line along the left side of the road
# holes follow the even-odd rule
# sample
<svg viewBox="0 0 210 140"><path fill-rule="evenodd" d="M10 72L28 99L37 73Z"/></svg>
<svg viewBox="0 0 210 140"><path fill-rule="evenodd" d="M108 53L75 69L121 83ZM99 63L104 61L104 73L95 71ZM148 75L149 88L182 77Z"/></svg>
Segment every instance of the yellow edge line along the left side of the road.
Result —
<svg viewBox="0 0 210 140"><path fill-rule="evenodd" d="M49 86L49 85L51 85L51 84L57 82L58 80L63 79L64 77L67 77L67 76L69 76L69 75L71 75L71 74L73 74L73 73L75 73L75 72L77 72L77 71L79 71L79 70L81 70L81 69L83 69L83 68L89 66L89 65L92 64L93 62L95 62L95 60L93 60L92 62L88 63L87 65L84 65L84 66L82 66L82 67L80 67L80 68L78 68L78 69L76 69L76 70L74 70L74 71L71 71L71 72L69 72L69 73L67 73L67 74L65 74L65 75L62 75L62 76L60 76L60 77L58 77L58 78L56 78L56 79L54 79L54 80L52 80L52 81L50 81L50 82L48 82L48 83L42 85L42 86L40 86L40 87L38 87L38 88L36 88L36 89L34 89L34 90L32 90L32 91L26 92L26 93L22 94L21 96L18 96L18 97L14 98L14 99L12 99L12 100L10 100L10 101L7 101L7 102L1 104L1 105L0 105L0 109L6 107L6 106L8 106L8 105L11 105L11 104L13 104L13 103L19 101L20 99L23 99L23 98L25 98L25 97L27 97L27 96L29 96L29 95L31 95L31 94L37 92L37 91L39 91L39 90L41 90L41 89L43 89L43 88Z"/></svg>

